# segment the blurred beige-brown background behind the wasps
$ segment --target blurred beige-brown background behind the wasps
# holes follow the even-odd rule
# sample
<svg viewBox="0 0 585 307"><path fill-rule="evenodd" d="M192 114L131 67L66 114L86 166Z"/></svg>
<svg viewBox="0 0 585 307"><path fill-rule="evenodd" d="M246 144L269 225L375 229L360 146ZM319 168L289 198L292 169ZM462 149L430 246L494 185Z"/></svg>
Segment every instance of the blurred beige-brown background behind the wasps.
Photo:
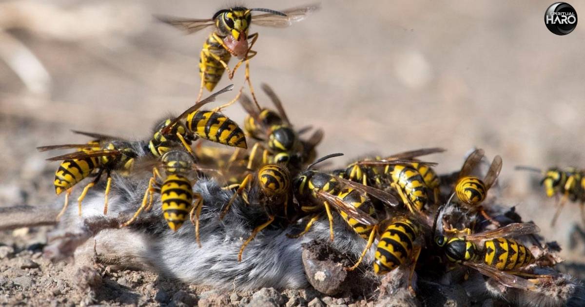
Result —
<svg viewBox="0 0 585 307"><path fill-rule="evenodd" d="M427 158L439 173L458 170L473 147L500 154L504 203L557 240L563 256L582 260L579 205L567 203L550 228L555 200L536 186L538 174L514 171L585 165L585 25L553 35L543 23L550 4L324 1L287 29L252 26L260 33L252 82L268 82L297 127L325 130L321 154L441 146L448 151ZM209 32L185 36L152 15L211 18L218 9L186 0L0 2L0 204L54 201L57 163L36 146L85 142L70 129L149 137L158 119L191 106ZM217 89L243 80L241 69ZM225 113L244 116L238 105Z"/></svg>

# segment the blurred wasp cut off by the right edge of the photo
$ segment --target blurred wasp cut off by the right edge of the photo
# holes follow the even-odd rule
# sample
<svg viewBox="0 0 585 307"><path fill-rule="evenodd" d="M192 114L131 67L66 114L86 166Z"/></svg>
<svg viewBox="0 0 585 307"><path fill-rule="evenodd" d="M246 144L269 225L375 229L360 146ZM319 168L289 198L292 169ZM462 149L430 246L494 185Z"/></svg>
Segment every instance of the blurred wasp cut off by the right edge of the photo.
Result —
<svg viewBox="0 0 585 307"><path fill-rule="evenodd" d="M517 170L528 170L543 175L541 185L544 185L546 196L552 197L554 195L562 194L562 198L558 199L557 209L553 216L550 225L555 226L556 219L559 217L561 209L565 206L567 199L572 202L579 202L581 211L581 220L585 225L585 172L574 167L567 167L564 169L558 167L551 167L546 171L539 168L528 166L517 166Z"/></svg>

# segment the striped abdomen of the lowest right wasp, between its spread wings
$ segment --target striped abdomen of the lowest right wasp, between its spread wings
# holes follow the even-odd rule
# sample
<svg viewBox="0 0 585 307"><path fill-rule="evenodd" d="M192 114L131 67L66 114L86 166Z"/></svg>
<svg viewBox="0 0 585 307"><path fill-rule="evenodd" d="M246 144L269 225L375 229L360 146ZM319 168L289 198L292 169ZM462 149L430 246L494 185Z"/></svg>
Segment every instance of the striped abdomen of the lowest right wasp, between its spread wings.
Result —
<svg viewBox="0 0 585 307"><path fill-rule="evenodd" d="M500 271L511 271L534 261L528 248L515 240L498 238L484 242L483 262Z"/></svg>

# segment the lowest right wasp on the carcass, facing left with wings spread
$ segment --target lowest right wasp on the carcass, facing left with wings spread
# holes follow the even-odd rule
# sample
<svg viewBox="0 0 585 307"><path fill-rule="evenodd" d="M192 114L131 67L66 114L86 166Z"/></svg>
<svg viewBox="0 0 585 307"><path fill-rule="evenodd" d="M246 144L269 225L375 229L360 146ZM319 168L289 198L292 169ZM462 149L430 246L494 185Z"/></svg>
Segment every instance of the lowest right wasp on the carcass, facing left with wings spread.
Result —
<svg viewBox="0 0 585 307"><path fill-rule="evenodd" d="M440 210L439 210L440 211ZM433 226L433 229L442 227ZM457 230L456 236L435 236L435 243L451 263L474 268L494 278L506 287L532 289L534 284L517 275L543 277L517 271L531 263L534 256L528 247L508 237L538 233L538 226L530 223L512 223L494 230L472 234L470 229ZM434 230L433 230L434 232ZM517 275L515 275L517 274Z"/></svg>

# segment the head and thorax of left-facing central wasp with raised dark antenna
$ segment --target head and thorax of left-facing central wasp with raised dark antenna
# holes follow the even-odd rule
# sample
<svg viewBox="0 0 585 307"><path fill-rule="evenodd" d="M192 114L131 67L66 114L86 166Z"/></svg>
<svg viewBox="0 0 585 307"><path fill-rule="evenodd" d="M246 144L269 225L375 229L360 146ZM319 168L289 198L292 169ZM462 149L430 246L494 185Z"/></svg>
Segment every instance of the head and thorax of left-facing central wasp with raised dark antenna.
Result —
<svg viewBox="0 0 585 307"><path fill-rule="evenodd" d="M340 183L335 177L314 170L308 170L299 175L293 185L297 198L307 201L301 203L301 211L305 213L319 212L324 209L323 202L316 196L316 191L338 195L340 189Z"/></svg>

